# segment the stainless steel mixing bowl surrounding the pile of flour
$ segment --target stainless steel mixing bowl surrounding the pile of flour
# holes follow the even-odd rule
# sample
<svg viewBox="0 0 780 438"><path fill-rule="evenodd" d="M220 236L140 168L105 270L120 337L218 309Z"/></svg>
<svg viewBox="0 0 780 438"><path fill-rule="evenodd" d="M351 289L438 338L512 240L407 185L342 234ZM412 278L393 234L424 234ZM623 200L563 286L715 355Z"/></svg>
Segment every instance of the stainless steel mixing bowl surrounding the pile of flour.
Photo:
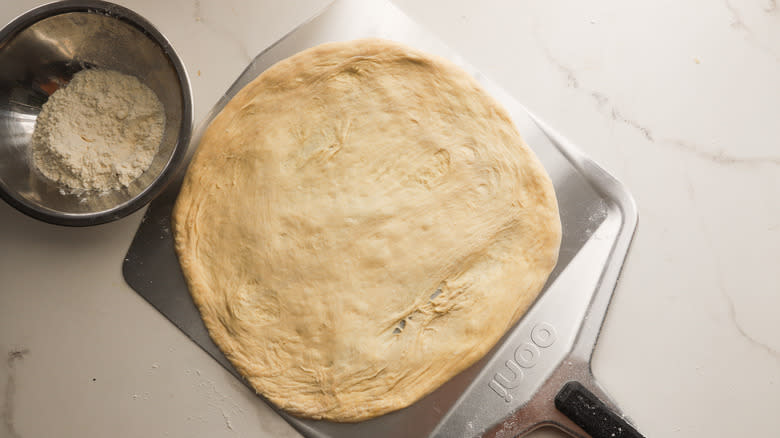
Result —
<svg viewBox="0 0 780 438"><path fill-rule="evenodd" d="M38 172L30 139L41 105L79 70L100 67L139 78L165 107L165 132L149 169L129 187L67 194ZM0 195L20 211L60 225L95 225L152 200L180 167L192 130L184 66L165 37L138 14L103 1L33 9L0 31Z"/></svg>

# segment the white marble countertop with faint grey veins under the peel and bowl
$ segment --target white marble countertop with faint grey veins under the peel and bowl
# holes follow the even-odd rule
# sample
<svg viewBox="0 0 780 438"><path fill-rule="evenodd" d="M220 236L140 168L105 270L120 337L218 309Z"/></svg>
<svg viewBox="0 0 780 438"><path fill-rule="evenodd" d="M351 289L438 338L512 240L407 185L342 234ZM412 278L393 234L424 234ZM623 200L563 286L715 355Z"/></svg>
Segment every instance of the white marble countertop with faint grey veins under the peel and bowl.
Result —
<svg viewBox="0 0 780 438"><path fill-rule="evenodd" d="M4 0L0 22L38 3ZM176 47L197 123L327 0L119 3ZM776 1L397 4L634 194L640 225L593 368L639 428L776 436ZM124 283L141 216L74 229L0 203L0 436L297 436Z"/></svg>

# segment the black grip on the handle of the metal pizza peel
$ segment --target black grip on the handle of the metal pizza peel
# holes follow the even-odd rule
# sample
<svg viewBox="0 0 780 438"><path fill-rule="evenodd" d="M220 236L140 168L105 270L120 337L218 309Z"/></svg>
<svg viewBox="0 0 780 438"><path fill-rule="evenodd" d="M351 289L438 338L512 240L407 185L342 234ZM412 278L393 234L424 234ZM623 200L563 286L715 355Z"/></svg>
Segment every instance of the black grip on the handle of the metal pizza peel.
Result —
<svg viewBox="0 0 780 438"><path fill-rule="evenodd" d="M593 438L644 438L580 382L567 382L555 396L555 407Z"/></svg>

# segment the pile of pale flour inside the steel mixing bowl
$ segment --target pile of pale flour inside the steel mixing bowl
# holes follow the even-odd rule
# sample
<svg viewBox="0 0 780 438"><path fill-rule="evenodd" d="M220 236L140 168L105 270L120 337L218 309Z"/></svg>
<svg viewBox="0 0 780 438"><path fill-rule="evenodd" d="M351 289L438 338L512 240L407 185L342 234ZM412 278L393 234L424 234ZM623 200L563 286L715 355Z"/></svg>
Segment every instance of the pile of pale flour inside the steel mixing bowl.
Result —
<svg viewBox="0 0 780 438"><path fill-rule="evenodd" d="M165 112L149 87L113 70L82 70L43 104L35 166L72 191L127 187L152 163Z"/></svg>

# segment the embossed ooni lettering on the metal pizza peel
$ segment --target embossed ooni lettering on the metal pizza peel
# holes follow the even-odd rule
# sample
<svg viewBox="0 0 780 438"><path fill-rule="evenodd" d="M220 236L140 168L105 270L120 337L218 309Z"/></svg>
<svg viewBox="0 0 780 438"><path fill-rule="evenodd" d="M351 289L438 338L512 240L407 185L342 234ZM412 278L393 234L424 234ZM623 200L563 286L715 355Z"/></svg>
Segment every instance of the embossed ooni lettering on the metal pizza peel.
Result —
<svg viewBox="0 0 780 438"><path fill-rule="evenodd" d="M523 369L533 368L539 360L541 349L547 348L556 341L555 329L546 322L536 324L531 330L531 342L524 342L515 349L514 359L506 361L506 367L512 377L496 373L488 386L505 402L512 401L509 390L517 388L523 381Z"/></svg>

